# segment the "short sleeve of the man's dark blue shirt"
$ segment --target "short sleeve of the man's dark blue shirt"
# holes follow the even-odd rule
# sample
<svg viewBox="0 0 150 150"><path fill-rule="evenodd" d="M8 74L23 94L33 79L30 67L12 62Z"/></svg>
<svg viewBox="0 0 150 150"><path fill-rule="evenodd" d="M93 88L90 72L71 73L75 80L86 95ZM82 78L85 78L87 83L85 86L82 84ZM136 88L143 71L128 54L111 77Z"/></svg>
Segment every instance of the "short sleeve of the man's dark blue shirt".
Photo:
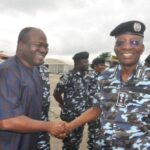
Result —
<svg viewBox="0 0 150 150"><path fill-rule="evenodd" d="M21 87L18 74L13 69L0 70L0 119L23 114Z"/></svg>

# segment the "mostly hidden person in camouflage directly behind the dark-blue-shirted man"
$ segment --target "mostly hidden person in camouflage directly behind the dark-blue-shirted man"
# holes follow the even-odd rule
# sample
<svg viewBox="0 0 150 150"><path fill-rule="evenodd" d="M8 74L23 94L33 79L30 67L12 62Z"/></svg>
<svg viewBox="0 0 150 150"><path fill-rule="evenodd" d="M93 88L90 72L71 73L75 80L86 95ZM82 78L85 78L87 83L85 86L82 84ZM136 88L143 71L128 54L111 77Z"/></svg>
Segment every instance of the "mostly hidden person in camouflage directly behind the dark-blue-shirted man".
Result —
<svg viewBox="0 0 150 150"><path fill-rule="evenodd" d="M43 101L42 101L42 112L41 120L49 121L49 107L50 107L50 83L49 83L49 72L45 65L39 66L39 72L42 77L43 84ZM37 150L50 150L50 136L47 132L40 132Z"/></svg>

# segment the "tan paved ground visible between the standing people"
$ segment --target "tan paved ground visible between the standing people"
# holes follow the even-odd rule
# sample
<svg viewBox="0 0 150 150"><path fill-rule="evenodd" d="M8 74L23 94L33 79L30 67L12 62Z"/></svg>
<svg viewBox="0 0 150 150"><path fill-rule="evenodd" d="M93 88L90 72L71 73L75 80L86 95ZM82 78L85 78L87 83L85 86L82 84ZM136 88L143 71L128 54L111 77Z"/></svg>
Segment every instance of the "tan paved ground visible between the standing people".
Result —
<svg viewBox="0 0 150 150"><path fill-rule="evenodd" d="M59 75L50 75L50 83L51 83L51 106L50 106L50 119L51 120L59 120L60 108L58 107L57 102L54 100L52 93L56 86L56 83L59 80ZM87 126L84 129L83 141L80 145L80 150L87 150ZM51 137L51 150L61 150L62 142L61 140Z"/></svg>

